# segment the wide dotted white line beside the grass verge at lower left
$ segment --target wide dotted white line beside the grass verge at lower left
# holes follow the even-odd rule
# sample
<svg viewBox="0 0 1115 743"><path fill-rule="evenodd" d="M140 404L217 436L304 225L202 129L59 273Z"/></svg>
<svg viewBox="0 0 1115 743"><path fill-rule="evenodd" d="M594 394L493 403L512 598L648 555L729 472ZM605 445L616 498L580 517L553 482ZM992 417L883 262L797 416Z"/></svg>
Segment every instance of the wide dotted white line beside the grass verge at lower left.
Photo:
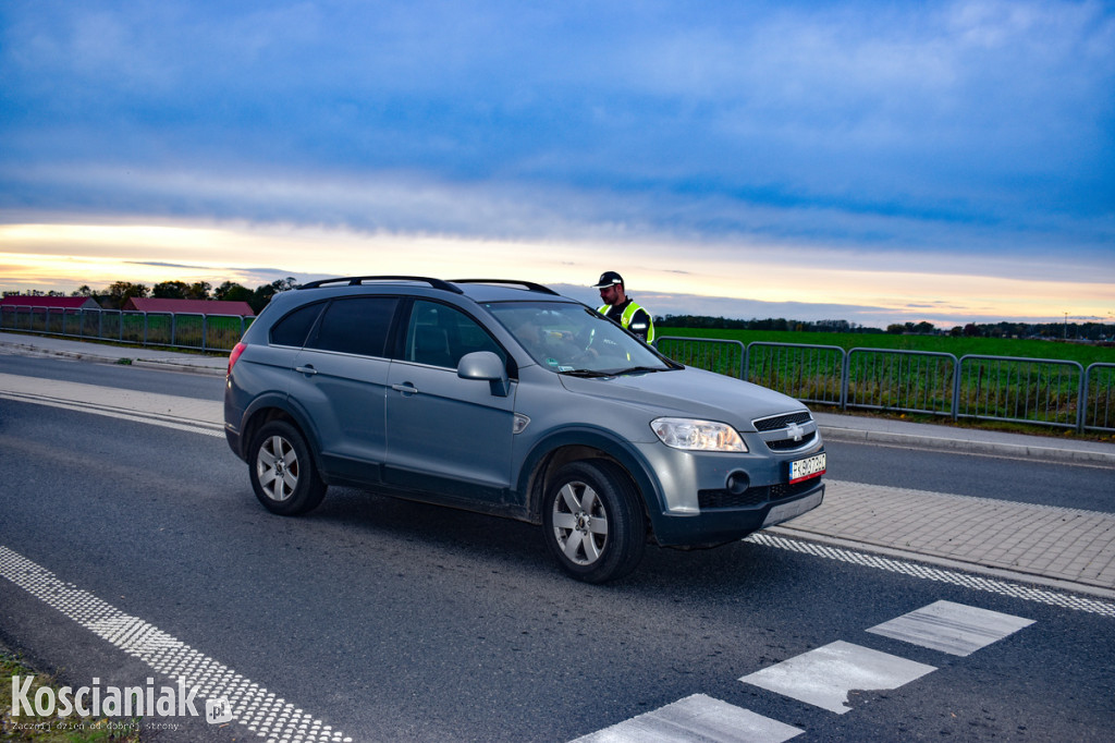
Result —
<svg viewBox="0 0 1115 743"><path fill-rule="evenodd" d="M232 668L74 583L64 582L3 546L0 546L0 577L171 679L196 688L200 696L226 698L233 720L269 743L352 743L351 737Z"/></svg>

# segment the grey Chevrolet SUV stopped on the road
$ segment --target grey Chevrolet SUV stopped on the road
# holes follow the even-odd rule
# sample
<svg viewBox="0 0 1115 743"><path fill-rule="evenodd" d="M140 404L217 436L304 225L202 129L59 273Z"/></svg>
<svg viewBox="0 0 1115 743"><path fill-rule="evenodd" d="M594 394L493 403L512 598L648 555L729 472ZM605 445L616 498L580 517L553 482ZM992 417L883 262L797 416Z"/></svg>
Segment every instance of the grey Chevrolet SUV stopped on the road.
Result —
<svg viewBox="0 0 1115 743"><path fill-rule="evenodd" d="M329 484L541 524L574 578L821 504L797 401L671 361L525 281L355 277L277 295L229 359L229 445L284 515Z"/></svg>

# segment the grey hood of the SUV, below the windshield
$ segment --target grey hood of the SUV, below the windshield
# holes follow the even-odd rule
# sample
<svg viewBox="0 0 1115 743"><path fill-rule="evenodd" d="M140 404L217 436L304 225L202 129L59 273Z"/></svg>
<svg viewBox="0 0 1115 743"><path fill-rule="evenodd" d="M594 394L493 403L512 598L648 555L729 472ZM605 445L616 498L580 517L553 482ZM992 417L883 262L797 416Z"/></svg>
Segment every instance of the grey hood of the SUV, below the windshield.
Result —
<svg viewBox="0 0 1115 743"><path fill-rule="evenodd" d="M720 421L739 431L755 431L756 418L805 409L782 393L692 367L598 378L562 375L561 380L579 395L634 405L655 415Z"/></svg>

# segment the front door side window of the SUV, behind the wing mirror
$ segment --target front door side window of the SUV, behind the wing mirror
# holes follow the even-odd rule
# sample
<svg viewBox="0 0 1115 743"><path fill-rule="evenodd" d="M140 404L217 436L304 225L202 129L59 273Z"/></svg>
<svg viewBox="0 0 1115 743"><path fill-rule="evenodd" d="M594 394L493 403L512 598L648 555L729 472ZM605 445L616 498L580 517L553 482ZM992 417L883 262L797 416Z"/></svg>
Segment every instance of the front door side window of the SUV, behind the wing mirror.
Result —
<svg viewBox="0 0 1115 743"><path fill-rule="evenodd" d="M507 360L507 354L487 330L460 310L421 299L414 303L407 326L406 360L455 369L463 356L478 350Z"/></svg>

